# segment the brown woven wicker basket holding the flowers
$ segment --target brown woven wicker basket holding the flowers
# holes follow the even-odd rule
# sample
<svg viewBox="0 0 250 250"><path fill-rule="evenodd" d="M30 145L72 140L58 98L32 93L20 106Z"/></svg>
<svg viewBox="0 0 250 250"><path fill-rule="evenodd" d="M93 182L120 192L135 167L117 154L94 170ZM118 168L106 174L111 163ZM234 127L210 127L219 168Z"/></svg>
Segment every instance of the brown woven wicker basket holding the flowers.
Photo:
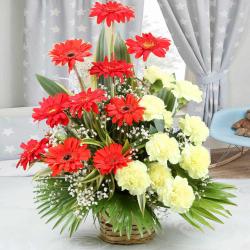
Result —
<svg viewBox="0 0 250 250"><path fill-rule="evenodd" d="M148 231L143 232L141 237L139 230L136 225L133 225L131 237L128 239L127 235L120 235L119 233L113 232L113 227L111 224L105 222L104 219L100 221L100 238L111 244L120 244L120 245L132 245L132 244L143 244L147 241L150 241L155 236L155 231L152 230L151 233Z"/></svg>

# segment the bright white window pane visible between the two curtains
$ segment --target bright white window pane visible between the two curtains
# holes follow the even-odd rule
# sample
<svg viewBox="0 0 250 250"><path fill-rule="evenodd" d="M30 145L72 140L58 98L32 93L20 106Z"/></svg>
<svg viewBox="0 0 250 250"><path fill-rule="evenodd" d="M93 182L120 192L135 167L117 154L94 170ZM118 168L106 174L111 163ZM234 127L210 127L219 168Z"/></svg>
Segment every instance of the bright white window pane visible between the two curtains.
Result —
<svg viewBox="0 0 250 250"><path fill-rule="evenodd" d="M154 35L166 37L172 42L170 50L167 52L167 56L164 59L152 56L149 57L147 64L164 68L164 70L169 73L175 73L177 79L184 79L186 65L173 43L160 6L156 0L144 0L142 32L151 32Z"/></svg>

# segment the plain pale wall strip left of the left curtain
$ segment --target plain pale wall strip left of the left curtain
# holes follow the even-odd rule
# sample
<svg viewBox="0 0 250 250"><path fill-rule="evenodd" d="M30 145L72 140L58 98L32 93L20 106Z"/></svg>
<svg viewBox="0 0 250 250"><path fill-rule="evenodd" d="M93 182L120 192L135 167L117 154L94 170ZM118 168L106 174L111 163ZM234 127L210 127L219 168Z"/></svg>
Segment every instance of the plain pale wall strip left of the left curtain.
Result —
<svg viewBox="0 0 250 250"><path fill-rule="evenodd" d="M22 106L25 0L0 0L0 108Z"/></svg>

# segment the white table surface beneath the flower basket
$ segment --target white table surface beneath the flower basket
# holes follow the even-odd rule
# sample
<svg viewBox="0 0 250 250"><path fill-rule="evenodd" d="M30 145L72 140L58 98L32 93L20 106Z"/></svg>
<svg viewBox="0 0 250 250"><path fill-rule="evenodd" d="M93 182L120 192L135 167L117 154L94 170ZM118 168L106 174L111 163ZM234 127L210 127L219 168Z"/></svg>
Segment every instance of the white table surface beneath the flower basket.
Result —
<svg viewBox="0 0 250 250"><path fill-rule="evenodd" d="M178 215L163 219L162 232L146 245L109 245L98 238L98 226L89 218L70 239L51 231L33 204L30 177L0 177L0 250L248 250L250 249L250 180L227 180L238 187L233 217L215 231L201 233Z"/></svg>

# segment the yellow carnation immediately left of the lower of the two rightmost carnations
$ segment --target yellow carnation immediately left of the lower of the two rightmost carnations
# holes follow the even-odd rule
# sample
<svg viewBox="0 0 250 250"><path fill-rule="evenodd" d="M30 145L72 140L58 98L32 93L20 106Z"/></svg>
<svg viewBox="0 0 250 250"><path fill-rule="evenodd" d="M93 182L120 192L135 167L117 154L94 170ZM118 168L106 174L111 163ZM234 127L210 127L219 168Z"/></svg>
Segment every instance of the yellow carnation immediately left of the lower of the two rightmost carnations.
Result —
<svg viewBox="0 0 250 250"><path fill-rule="evenodd" d="M160 132L152 135L145 147L150 161L159 161L162 164L170 161L172 164L176 164L180 160L178 142L166 133Z"/></svg>

